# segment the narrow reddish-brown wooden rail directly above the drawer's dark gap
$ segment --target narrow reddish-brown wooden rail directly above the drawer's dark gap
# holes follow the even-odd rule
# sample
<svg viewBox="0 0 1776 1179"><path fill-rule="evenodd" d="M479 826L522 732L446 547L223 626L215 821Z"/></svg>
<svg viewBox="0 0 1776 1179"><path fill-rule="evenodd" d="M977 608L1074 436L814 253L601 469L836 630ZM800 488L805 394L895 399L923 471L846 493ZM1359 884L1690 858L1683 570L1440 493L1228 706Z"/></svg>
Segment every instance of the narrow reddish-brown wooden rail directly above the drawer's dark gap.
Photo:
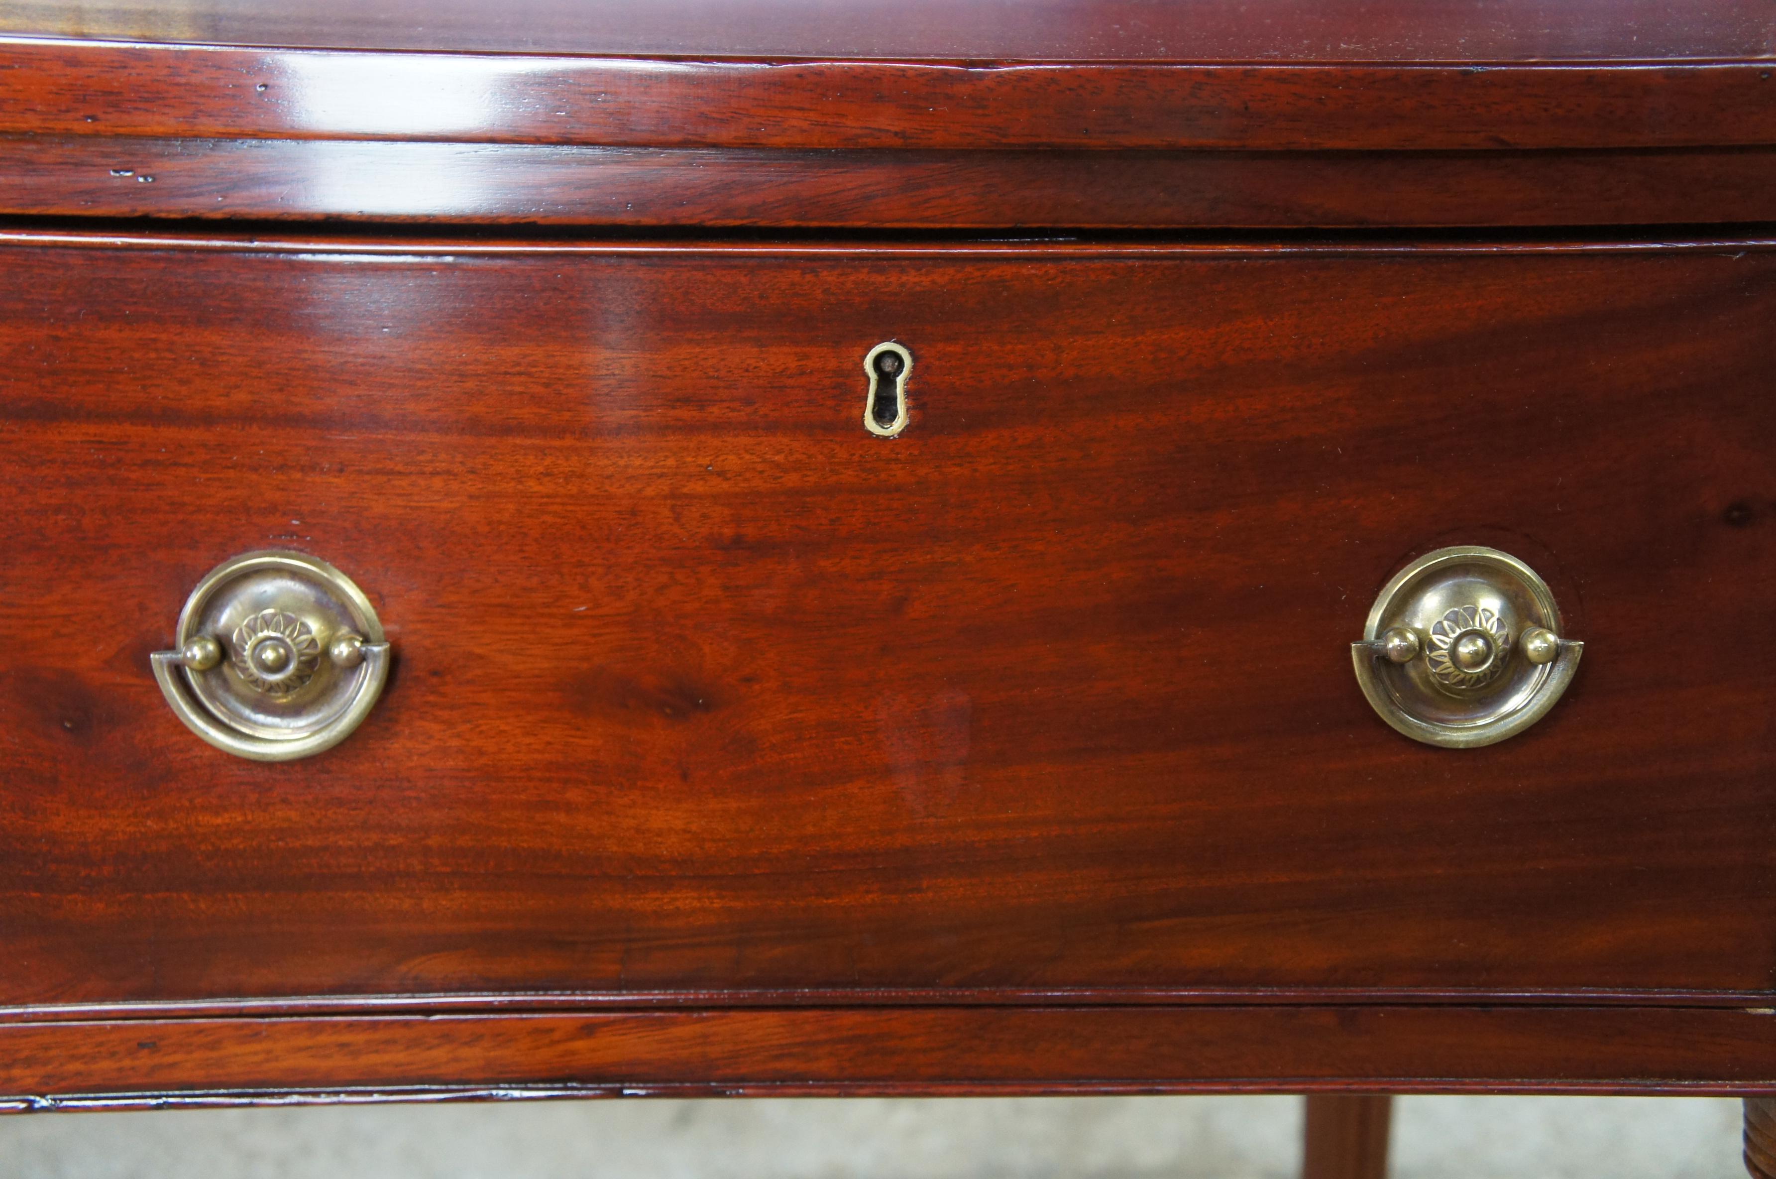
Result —
<svg viewBox="0 0 1776 1179"><path fill-rule="evenodd" d="M0 213L551 226L1776 220L1776 151L742 151L14 135Z"/></svg>

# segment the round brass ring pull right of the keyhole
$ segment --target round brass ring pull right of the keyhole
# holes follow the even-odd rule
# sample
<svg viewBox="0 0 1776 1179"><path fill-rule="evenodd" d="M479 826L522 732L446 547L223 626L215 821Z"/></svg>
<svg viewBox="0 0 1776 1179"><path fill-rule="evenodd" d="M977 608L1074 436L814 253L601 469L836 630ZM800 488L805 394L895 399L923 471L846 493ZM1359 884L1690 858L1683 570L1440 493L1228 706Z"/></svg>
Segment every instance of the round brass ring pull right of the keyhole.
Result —
<svg viewBox="0 0 1776 1179"><path fill-rule="evenodd" d="M1584 643L1561 637L1554 593L1497 549L1439 549L1399 570L1369 611L1352 662L1396 730L1472 749L1540 721Z"/></svg>

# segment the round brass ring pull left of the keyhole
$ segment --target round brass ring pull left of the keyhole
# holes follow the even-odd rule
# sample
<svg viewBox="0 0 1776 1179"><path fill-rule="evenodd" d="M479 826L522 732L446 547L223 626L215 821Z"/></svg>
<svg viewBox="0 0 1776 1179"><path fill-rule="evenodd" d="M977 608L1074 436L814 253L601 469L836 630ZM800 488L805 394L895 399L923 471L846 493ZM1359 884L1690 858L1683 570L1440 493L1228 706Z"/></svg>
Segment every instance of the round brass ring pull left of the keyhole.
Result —
<svg viewBox="0 0 1776 1179"><path fill-rule="evenodd" d="M369 598L302 552L247 552L213 568L185 600L174 645L151 655L172 712L254 762L334 748L389 678Z"/></svg>

